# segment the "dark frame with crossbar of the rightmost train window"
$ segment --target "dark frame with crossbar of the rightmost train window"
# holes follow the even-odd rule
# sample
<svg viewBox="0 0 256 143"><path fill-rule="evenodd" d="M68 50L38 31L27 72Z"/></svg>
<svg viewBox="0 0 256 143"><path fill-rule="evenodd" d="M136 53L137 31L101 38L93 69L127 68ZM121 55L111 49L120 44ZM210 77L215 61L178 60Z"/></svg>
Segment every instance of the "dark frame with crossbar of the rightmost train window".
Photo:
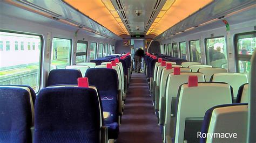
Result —
<svg viewBox="0 0 256 143"><path fill-rule="evenodd" d="M250 61L251 60L251 57L252 55L243 55L243 54L239 54L239 51L238 51L238 38L239 36L242 36L242 35L249 35L249 34L253 34L255 35L256 37L256 32L255 31L251 31L251 32L244 32L244 33L237 33L234 35L234 50L235 50L235 71L237 73L239 73L239 60L240 61ZM252 37L248 37L248 38L252 38ZM242 38L241 38L242 39Z"/></svg>

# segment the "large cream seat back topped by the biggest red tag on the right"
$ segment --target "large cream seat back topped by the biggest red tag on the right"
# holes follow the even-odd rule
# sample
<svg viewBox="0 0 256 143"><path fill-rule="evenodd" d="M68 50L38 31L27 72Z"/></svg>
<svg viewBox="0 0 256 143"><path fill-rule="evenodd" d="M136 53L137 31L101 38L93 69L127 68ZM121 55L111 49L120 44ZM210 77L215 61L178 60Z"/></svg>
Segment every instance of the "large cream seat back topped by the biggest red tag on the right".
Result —
<svg viewBox="0 0 256 143"><path fill-rule="evenodd" d="M188 87L187 83L181 85L177 96L175 142L184 141L188 118L203 118L213 106L231 103L232 92L227 83L202 82L197 87Z"/></svg>

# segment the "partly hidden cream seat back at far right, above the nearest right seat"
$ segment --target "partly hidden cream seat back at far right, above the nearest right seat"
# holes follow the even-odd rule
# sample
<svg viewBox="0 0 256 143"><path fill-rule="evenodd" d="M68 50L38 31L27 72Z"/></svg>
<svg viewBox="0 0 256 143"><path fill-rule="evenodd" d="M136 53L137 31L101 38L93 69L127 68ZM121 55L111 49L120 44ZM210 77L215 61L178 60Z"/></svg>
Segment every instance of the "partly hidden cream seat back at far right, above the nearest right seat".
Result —
<svg viewBox="0 0 256 143"><path fill-rule="evenodd" d="M248 103L249 101L249 84L241 85L237 94L237 103Z"/></svg>

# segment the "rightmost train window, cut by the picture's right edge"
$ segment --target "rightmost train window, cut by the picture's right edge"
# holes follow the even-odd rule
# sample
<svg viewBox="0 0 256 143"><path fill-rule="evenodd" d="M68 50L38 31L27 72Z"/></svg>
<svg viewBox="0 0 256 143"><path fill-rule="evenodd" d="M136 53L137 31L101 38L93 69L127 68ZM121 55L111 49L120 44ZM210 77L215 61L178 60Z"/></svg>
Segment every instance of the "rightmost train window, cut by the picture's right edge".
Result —
<svg viewBox="0 0 256 143"><path fill-rule="evenodd" d="M256 49L256 32L247 32L235 35L235 52L237 71L249 73L251 69L250 59Z"/></svg>

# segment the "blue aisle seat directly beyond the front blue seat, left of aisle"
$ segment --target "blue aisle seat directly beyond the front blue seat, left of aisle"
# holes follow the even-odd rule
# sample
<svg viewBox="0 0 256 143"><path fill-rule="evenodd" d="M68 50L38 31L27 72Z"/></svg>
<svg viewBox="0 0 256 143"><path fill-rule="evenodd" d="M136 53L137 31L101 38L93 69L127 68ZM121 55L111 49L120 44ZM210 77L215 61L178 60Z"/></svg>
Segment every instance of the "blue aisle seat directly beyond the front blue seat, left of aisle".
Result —
<svg viewBox="0 0 256 143"><path fill-rule="evenodd" d="M95 85L102 99L104 112L110 112L111 117L104 120L108 127L109 138L117 139L119 134L118 116L122 115L122 105L118 102L118 76L117 71L109 68L95 68L86 71L90 85ZM120 97L119 99L122 100Z"/></svg>

